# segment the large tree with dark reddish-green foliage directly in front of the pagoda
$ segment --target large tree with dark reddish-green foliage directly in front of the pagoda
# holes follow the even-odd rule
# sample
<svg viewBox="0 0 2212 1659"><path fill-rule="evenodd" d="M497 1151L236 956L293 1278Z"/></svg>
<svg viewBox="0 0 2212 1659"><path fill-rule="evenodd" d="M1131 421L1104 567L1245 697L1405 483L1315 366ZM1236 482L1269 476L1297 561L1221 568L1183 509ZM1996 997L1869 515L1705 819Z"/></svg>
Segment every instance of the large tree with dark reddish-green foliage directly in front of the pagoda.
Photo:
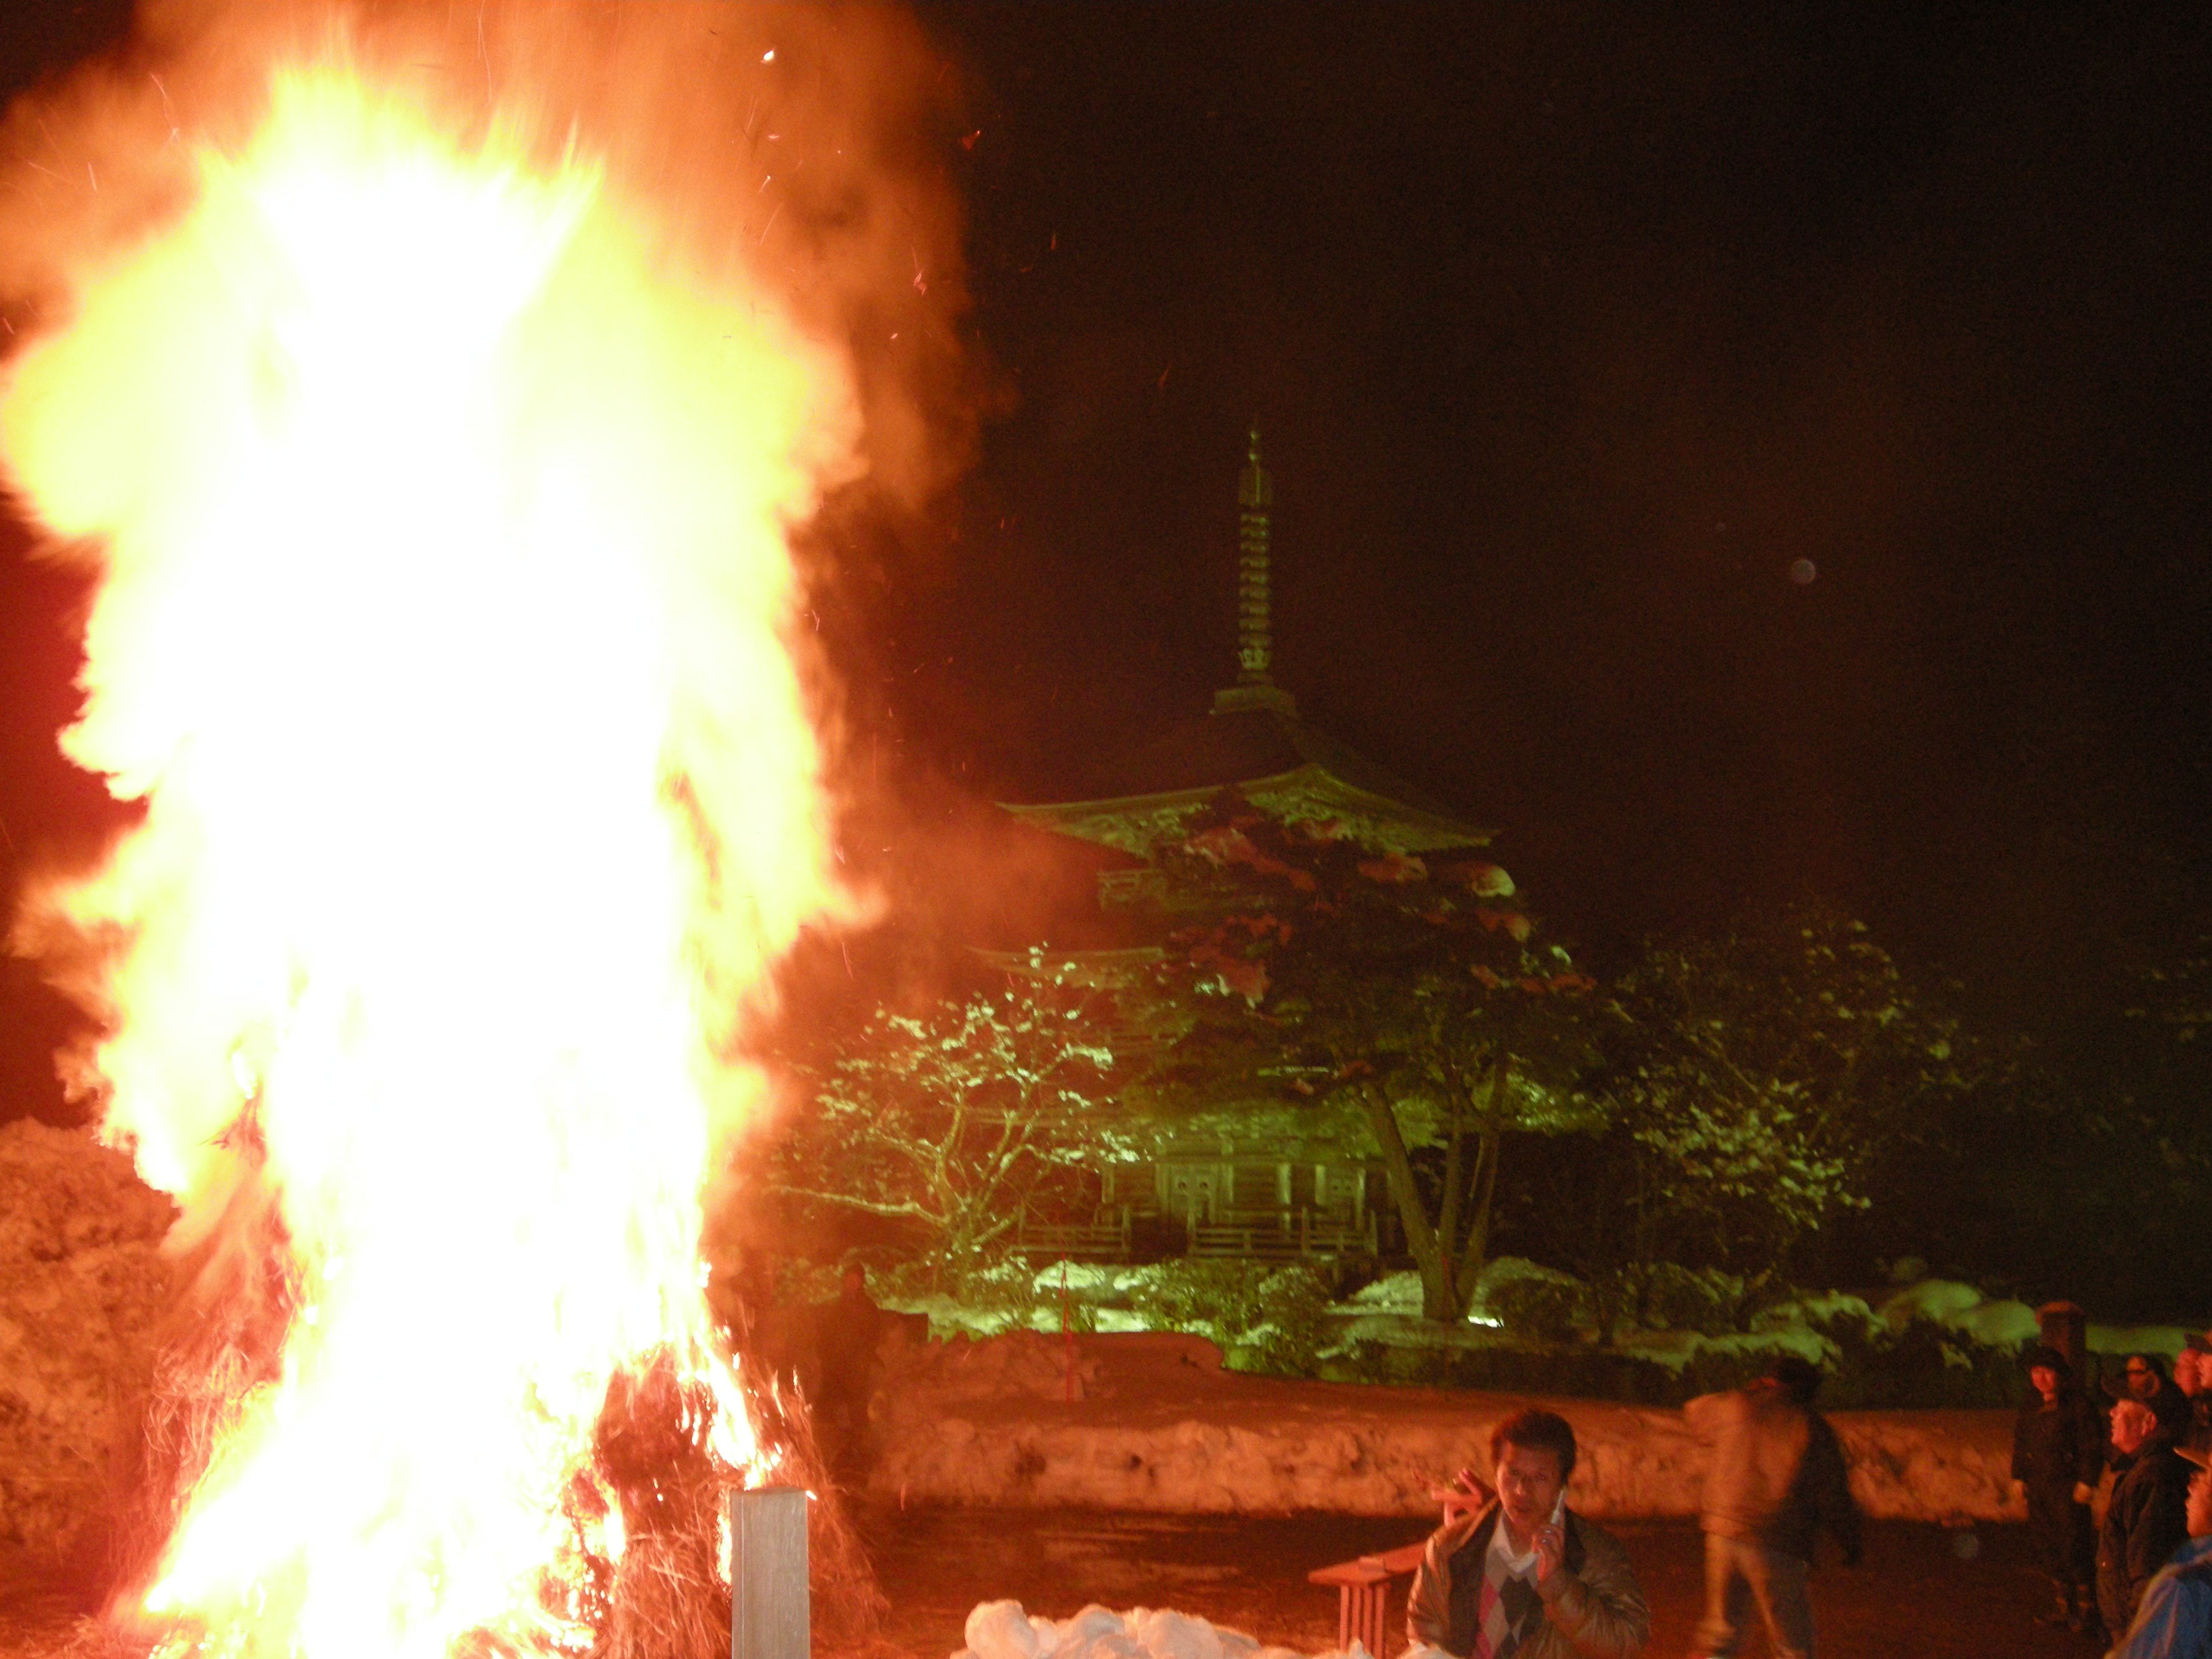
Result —
<svg viewBox="0 0 2212 1659"><path fill-rule="evenodd" d="M1161 854L1208 920L1170 940L1177 1029L1152 1097L1303 1102L1383 1157L1431 1318L1467 1312L1504 1141L1584 1128L1568 1084L1593 982L1471 852L1376 854L1223 792ZM1416 1148L1436 1148L1429 1168Z"/></svg>

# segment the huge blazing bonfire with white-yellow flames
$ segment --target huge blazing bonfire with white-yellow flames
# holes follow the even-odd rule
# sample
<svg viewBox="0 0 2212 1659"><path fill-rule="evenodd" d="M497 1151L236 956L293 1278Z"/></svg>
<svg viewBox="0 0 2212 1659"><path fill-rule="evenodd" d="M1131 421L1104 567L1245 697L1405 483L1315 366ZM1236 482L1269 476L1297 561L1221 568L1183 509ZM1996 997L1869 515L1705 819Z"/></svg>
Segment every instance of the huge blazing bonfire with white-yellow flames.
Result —
<svg viewBox="0 0 2212 1659"><path fill-rule="evenodd" d="M148 71L144 217L7 372L9 480L97 564L64 745L142 807L20 936L199 1267L124 1606L173 1652L624 1646L765 1469L701 1183L765 975L849 905L790 533L865 422L770 239L752 157L801 135L754 88L686 186L615 84L639 24L529 11L471 15L465 97L409 80L425 38L478 73L434 31L243 27L201 131ZM648 27L664 95L688 27L774 62L728 9Z"/></svg>

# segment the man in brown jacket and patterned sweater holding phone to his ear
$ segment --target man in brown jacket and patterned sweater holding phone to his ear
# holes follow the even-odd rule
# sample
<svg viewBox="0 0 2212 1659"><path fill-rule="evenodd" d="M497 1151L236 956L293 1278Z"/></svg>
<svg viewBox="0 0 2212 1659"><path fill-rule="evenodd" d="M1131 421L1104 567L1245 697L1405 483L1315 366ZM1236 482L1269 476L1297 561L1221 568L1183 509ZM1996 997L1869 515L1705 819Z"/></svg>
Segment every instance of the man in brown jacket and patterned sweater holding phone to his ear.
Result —
<svg viewBox="0 0 2212 1659"><path fill-rule="evenodd" d="M1566 1506L1575 1429L1522 1411L1491 1431L1495 1498L1451 1502L1429 1537L1407 1635L1460 1659L1632 1659L1650 1610L1628 1551ZM1462 1486L1473 1486L1462 1475ZM1469 1493L1471 1498L1478 1493Z"/></svg>

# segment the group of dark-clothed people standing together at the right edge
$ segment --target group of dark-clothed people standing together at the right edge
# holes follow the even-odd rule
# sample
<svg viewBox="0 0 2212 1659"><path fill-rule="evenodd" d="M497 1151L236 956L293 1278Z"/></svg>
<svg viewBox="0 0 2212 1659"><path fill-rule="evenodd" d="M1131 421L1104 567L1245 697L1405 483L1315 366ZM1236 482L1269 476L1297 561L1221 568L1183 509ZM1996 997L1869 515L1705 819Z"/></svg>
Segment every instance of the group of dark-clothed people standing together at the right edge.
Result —
<svg viewBox="0 0 2212 1659"><path fill-rule="evenodd" d="M2099 1405L2055 1347L2026 1354L2013 1480L2057 1595L2053 1624L2115 1659L2212 1657L2212 1338L2172 1376L2128 1354Z"/></svg>

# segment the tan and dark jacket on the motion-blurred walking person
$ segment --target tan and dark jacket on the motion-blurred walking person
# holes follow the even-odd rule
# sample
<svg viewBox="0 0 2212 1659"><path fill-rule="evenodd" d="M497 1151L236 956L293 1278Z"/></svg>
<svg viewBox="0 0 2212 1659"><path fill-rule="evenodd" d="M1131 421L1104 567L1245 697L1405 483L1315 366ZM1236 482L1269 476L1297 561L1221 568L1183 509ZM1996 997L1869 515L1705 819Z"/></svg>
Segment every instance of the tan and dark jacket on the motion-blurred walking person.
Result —
<svg viewBox="0 0 2212 1659"><path fill-rule="evenodd" d="M1681 1413L1697 1438L1712 1444L1708 1533L1747 1537L1776 1555L1809 1562L1814 1526L1827 1526L1845 1559L1858 1559L1858 1504L1827 1418L1792 1400L1787 1389L1756 1383L1732 1394L1701 1394Z"/></svg>

